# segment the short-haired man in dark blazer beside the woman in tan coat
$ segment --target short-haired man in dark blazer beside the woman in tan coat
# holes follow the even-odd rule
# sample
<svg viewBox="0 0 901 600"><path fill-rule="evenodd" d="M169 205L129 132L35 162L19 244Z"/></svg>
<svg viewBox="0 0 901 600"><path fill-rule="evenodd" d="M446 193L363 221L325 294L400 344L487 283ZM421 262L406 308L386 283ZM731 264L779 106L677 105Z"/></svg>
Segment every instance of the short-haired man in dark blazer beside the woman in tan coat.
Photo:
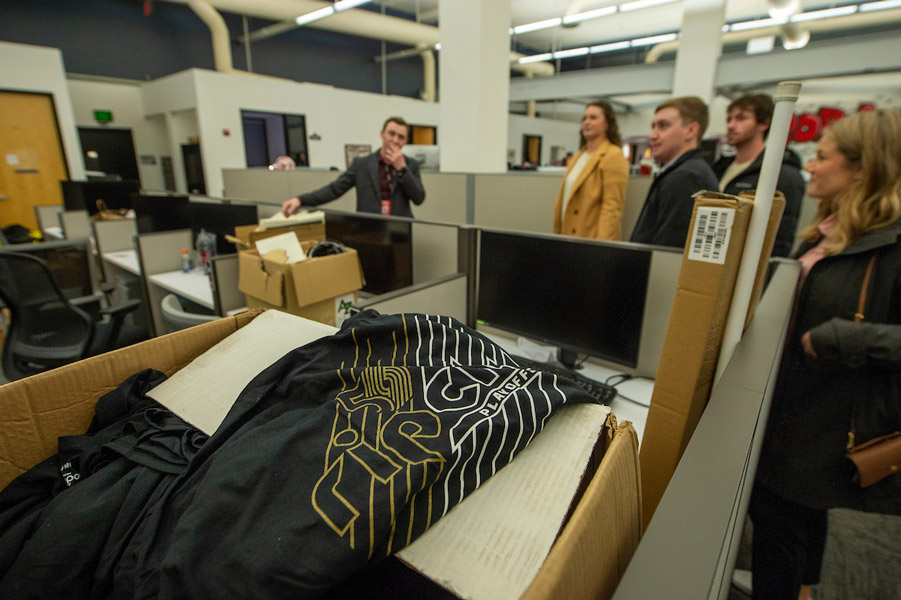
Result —
<svg viewBox="0 0 901 600"><path fill-rule="evenodd" d="M651 155L661 168L648 190L630 242L683 248L696 192L716 190L713 169L701 154L710 117L700 98L686 96L657 107L651 122Z"/></svg>

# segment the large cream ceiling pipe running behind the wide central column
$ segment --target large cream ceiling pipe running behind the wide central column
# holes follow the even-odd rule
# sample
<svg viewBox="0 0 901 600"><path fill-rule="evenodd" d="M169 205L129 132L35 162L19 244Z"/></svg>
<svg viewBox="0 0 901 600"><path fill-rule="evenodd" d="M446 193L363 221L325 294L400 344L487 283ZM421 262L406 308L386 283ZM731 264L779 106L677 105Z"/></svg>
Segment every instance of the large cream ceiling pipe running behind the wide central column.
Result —
<svg viewBox="0 0 901 600"><path fill-rule="evenodd" d="M177 4L190 4L194 0L168 0ZM272 21L281 21L264 27L250 34L250 41L258 41L296 29L294 18L318 10L325 6L331 6L331 2L319 2L318 0L206 0L220 11L249 15ZM379 14L369 10L351 9L336 13L325 19L320 19L304 25L324 31L346 33L368 39L385 40L395 44L418 46L425 44L434 47L441 41L439 29L432 25L416 23ZM244 37L241 36L243 40ZM554 66L550 63L518 64L516 61L525 56L518 52L510 53L510 68L520 73L534 73L536 75L553 75Z"/></svg>

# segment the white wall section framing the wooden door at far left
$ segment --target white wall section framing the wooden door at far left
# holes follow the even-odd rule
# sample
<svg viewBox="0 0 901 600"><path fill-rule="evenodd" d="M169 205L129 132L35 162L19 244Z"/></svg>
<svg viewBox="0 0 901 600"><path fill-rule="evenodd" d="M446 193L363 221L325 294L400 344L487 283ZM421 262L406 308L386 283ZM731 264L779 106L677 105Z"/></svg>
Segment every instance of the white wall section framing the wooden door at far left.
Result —
<svg viewBox="0 0 901 600"><path fill-rule="evenodd" d="M0 42L0 89L53 96L69 178L84 179L84 159L62 53L56 48Z"/></svg>

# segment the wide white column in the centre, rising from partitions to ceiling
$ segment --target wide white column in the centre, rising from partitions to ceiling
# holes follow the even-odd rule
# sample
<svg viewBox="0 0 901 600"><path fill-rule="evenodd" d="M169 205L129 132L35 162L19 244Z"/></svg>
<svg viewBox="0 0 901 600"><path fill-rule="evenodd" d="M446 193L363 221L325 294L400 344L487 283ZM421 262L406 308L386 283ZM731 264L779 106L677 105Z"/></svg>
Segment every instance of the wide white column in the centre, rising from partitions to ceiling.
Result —
<svg viewBox="0 0 901 600"><path fill-rule="evenodd" d="M441 170L507 170L510 0L441 0Z"/></svg>

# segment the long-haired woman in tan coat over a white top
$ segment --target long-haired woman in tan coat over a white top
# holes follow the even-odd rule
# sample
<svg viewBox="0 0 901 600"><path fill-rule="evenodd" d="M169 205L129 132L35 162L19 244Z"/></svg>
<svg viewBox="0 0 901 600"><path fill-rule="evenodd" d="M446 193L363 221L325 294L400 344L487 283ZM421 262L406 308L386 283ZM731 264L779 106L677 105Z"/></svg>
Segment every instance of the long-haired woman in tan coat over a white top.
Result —
<svg viewBox="0 0 901 600"><path fill-rule="evenodd" d="M629 162L609 104L598 101L585 107L581 138L581 149L570 159L557 194L554 233L622 239Z"/></svg>

